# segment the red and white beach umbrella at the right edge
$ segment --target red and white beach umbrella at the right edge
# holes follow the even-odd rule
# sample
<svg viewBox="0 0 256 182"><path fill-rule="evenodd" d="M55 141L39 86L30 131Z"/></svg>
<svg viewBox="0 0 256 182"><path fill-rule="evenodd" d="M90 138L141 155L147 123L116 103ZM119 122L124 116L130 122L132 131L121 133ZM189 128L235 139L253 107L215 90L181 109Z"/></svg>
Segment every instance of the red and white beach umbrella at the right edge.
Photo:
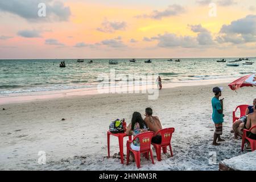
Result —
<svg viewBox="0 0 256 182"><path fill-rule="evenodd" d="M256 75L246 75L229 84L232 90L237 90L243 86L256 86Z"/></svg>

